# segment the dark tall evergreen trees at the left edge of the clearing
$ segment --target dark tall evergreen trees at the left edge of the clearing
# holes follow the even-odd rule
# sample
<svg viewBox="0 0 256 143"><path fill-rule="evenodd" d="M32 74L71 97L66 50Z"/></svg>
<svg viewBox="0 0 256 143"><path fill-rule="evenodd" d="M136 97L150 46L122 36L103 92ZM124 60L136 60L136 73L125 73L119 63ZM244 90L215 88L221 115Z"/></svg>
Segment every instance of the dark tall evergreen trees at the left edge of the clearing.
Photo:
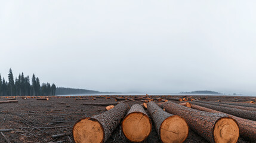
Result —
<svg viewBox="0 0 256 143"><path fill-rule="evenodd" d="M40 80L32 76L32 82L30 84L29 76L24 76L23 73L18 75L18 78L14 80L13 71L10 69L8 73L8 82L1 77L0 74L0 96L38 96L38 95L55 95L56 86L50 85L50 83L42 83Z"/></svg>

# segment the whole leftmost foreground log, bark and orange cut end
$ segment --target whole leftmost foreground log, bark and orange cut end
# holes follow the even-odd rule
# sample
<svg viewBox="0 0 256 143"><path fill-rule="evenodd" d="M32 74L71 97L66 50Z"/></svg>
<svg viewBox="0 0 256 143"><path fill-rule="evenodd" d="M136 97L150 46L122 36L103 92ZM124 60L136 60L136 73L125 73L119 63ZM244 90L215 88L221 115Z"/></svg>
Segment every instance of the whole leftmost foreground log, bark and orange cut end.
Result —
<svg viewBox="0 0 256 143"><path fill-rule="evenodd" d="M73 126L73 139L80 142L106 142L116 126L119 125L128 105L120 102L115 108L92 117L78 120Z"/></svg>

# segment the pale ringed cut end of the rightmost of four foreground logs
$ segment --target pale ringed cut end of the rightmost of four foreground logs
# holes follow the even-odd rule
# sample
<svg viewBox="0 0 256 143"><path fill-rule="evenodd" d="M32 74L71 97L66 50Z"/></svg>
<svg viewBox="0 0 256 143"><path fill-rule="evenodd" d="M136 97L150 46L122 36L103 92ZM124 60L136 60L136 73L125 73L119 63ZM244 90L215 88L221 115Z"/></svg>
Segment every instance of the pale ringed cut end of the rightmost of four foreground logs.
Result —
<svg viewBox="0 0 256 143"><path fill-rule="evenodd" d="M230 117L222 117L214 125L214 141L236 143L239 138L238 123Z"/></svg>

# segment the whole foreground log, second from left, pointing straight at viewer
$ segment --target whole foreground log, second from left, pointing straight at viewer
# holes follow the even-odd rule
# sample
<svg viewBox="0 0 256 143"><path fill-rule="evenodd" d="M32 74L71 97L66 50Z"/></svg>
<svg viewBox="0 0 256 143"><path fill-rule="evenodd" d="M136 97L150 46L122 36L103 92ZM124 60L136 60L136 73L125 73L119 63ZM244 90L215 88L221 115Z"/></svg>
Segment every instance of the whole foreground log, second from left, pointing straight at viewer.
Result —
<svg viewBox="0 0 256 143"><path fill-rule="evenodd" d="M132 142L141 142L149 136L152 125L146 111L139 104L132 105L122 121L122 131Z"/></svg>

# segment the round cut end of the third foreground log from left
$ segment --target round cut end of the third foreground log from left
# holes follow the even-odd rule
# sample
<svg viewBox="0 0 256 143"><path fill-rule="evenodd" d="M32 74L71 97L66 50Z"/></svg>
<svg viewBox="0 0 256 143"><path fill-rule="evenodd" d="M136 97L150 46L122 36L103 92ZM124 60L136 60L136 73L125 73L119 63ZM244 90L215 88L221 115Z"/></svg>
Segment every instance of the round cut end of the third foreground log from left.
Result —
<svg viewBox="0 0 256 143"><path fill-rule="evenodd" d="M189 126L182 117L174 115L162 122L160 129L162 142L184 142L189 135Z"/></svg>

